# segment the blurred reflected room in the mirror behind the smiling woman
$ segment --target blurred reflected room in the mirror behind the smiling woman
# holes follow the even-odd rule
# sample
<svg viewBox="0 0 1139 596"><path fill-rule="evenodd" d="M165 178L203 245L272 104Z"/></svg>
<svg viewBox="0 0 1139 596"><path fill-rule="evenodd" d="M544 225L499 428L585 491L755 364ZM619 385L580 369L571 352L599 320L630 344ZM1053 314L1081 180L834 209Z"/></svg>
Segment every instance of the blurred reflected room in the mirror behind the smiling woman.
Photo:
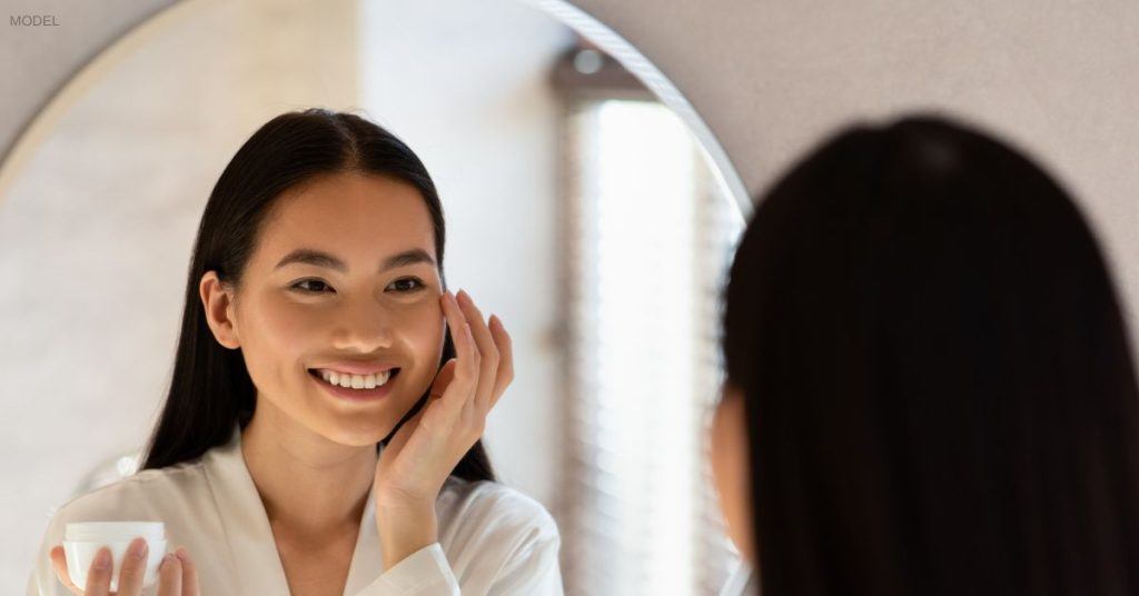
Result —
<svg viewBox="0 0 1139 596"><path fill-rule="evenodd" d="M734 565L704 464L715 300L741 226L723 172L640 81L515 0L192 0L89 65L0 185L0 585L51 512L132 473L170 381L221 170L272 116L352 111L424 160L449 284L517 378L503 482L563 533L568 594L713 594Z"/></svg>

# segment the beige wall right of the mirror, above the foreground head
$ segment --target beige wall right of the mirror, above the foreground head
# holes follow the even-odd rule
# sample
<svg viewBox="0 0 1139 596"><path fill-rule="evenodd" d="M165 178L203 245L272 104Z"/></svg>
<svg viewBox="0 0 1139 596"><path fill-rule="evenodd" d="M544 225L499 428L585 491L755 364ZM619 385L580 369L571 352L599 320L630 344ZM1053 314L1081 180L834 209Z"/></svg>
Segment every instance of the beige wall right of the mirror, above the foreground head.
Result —
<svg viewBox="0 0 1139 596"><path fill-rule="evenodd" d="M753 195L851 119L940 108L1006 134L1077 195L1139 337L1139 3L574 3L677 84Z"/></svg>

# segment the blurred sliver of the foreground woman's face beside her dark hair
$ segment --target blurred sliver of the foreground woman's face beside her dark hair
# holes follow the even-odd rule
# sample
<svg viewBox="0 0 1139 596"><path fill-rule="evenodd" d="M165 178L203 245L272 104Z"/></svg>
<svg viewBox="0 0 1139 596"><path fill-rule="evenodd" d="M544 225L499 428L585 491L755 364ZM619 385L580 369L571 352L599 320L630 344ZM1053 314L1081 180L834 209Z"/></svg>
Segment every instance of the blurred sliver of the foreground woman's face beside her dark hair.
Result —
<svg viewBox="0 0 1139 596"><path fill-rule="evenodd" d="M712 418L712 474L728 536L745 561L755 564L752 548L751 470L744 394L724 383Z"/></svg>

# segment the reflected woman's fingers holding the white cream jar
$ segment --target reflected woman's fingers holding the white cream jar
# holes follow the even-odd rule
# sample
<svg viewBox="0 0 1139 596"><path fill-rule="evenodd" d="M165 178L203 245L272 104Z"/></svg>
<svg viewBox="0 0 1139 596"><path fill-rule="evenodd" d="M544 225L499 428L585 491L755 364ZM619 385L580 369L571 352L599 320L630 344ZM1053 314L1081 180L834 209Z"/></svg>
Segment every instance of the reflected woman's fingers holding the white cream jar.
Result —
<svg viewBox="0 0 1139 596"><path fill-rule="evenodd" d="M141 548L141 552L137 548ZM132 555L131 553L136 553ZM175 554L177 553L177 554ZM175 553L167 554L158 565L158 596L200 596L198 590L198 572L186 548L179 547ZM100 569L99 557L105 556L105 565ZM126 550L122 569L118 570L118 591L110 591L110 549L103 547L91 562L87 572L87 586L80 588L72 583L67 573L67 558L64 547L51 549L51 565L56 569L59 581L75 596L140 596L142 594L144 573L146 572L146 540L136 538Z"/></svg>

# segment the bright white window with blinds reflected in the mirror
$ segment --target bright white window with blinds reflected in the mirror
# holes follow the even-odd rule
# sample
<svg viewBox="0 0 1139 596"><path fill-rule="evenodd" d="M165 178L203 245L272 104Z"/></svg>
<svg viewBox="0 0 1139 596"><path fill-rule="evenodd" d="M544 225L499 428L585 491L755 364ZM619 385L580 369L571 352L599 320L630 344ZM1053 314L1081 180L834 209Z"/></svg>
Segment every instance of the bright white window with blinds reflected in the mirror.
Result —
<svg viewBox="0 0 1139 596"><path fill-rule="evenodd" d="M706 428L740 226L656 101L572 98L564 155L567 593L715 594L732 550Z"/></svg>

